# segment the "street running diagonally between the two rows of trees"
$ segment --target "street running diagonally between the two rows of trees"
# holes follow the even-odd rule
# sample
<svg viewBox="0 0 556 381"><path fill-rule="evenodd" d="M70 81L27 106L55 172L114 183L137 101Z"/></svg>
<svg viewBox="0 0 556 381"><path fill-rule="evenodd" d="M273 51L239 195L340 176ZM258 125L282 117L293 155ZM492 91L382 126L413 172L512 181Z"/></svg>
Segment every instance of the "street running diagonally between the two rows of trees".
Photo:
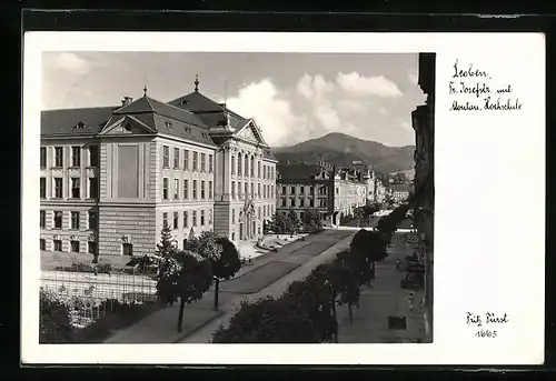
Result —
<svg viewBox="0 0 556 381"><path fill-rule="evenodd" d="M255 258L252 265L241 268L232 280L220 283L219 310L212 308L211 291L208 291L201 300L186 305L181 333L176 329L179 307L175 304L165 307L117 332L105 343L207 342L220 324L229 322L240 301L256 300L269 294L280 295L291 281L306 277L317 264L345 250L351 241L351 235L350 232L322 232L309 235L305 241L289 243L278 252ZM338 242L339 238L341 240ZM291 265L285 267L284 263ZM268 267L262 268L266 264L275 269L275 274L269 274ZM277 277L280 279L271 282ZM266 283L260 290L254 290L254 283L260 283L261 278ZM268 284L269 282L271 283ZM234 284L234 291L225 291L227 283ZM244 283L242 290L241 283Z"/></svg>

